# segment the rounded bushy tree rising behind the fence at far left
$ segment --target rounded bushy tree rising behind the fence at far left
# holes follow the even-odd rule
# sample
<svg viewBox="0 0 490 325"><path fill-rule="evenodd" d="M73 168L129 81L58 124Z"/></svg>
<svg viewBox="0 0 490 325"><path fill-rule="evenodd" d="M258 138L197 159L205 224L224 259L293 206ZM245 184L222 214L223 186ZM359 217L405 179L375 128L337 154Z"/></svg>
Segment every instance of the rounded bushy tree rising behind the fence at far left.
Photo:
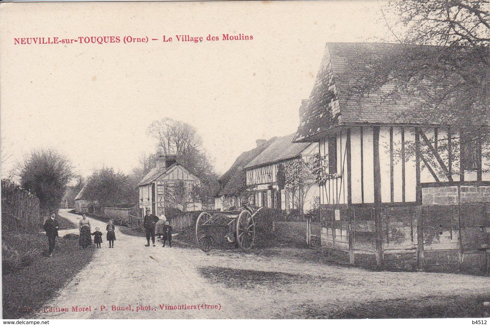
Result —
<svg viewBox="0 0 490 325"><path fill-rule="evenodd" d="M17 165L17 173L21 187L37 195L44 210L58 210L74 177L72 162L54 149L33 150Z"/></svg>

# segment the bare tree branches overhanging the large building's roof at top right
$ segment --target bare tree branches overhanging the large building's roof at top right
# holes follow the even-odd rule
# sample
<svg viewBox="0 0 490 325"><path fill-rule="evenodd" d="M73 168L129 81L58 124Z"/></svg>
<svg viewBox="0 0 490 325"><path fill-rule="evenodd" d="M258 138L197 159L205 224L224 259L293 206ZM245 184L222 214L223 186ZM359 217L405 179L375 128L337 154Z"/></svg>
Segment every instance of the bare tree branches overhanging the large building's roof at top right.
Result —
<svg viewBox="0 0 490 325"><path fill-rule="evenodd" d="M403 110L400 120L484 127L489 122L488 1L392 0L381 9L391 31L382 40L394 36L400 46L358 67L365 73L355 91L384 87L387 100L418 94L417 108Z"/></svg>

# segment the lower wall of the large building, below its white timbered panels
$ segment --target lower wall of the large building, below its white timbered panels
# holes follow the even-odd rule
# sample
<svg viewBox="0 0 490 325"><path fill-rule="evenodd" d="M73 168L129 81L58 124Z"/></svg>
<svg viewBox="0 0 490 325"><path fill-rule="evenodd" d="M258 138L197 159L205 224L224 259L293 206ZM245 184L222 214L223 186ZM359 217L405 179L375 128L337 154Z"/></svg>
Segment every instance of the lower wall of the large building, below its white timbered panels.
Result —
<svg viewBox="0 0 490 325"><path fill-rule="evenodd" d="M372 267L376 266L377 255L363 252L382 247L386 270L415 271L423 267L433 272L488 275L490 186L488 182L461 184L422 188L421 206L384 206L379 210L374 205L343 207L340 220L333 218L335 207L325 206L332 213L322 218L323 251L332 260ZM375 220L376 213L379 221ZM331 238L333 234L335 238ZM420 236L423 249L418 247ZM376 238L381 242L376 243ZM337 247L340 244L345 247Z"/></svg>

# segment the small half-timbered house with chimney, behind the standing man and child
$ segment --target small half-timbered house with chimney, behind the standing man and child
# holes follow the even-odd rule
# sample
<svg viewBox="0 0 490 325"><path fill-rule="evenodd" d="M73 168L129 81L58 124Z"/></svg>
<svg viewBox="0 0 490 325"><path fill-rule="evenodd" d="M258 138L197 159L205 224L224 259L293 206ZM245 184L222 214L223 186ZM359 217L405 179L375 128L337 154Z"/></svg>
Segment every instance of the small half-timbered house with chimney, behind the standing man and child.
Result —
<svg viewBox="0 0 490 325"><path fill-rule="evenodd" d="M184 212L201 210L202 202L192 193L193 186L202 184L199 177L176 161L175 155L160 155L156 167L137 185L142 215L147 208L154 215L165 213L165 208L176 208Z"/></svg>

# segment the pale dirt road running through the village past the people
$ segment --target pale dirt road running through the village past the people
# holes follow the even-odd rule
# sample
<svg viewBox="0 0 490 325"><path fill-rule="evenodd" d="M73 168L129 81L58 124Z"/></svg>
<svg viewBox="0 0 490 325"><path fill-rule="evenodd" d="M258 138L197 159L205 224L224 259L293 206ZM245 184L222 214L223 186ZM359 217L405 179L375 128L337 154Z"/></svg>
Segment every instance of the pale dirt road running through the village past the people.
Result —
<svg viewBox="0 0 490 325"><path fill-rule="evenodd" d="M80 218L67 210L60 215L75 223ZM95 219L90 222L104 234L102 248L46 305L58 309L32 317L280 318L301 315L303 309L314 306L334 309L354 302L490 292L488 277L370 272L295 259L291 256L301 254L292 252L298 250L295 248L281 248L279 253L285 254L273 257L234 250L206 254L196 249L162 248L159 242L156 247L145 247L145 238L116 229L116 247L109 249L105 224ZM203 304L218 308L206 309ZM73 311L75 306L90 310ZM129 310L112 310L112 306ZM148 310L137 311L145 308Z"/></svg>

